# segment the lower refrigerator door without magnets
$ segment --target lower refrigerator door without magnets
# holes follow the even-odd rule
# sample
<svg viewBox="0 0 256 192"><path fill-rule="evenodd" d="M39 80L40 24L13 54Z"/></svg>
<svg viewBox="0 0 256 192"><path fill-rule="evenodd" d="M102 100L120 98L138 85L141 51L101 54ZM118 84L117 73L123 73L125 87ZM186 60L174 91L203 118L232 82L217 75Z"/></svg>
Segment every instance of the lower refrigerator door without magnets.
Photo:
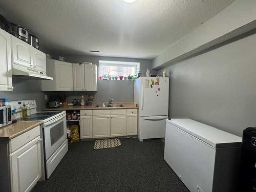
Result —
<svg viewBox="0 0 256 192"><path fill-rule="evenodd" d="M139 139L164 138L166 118L168 116L139 117Z"/></svg>

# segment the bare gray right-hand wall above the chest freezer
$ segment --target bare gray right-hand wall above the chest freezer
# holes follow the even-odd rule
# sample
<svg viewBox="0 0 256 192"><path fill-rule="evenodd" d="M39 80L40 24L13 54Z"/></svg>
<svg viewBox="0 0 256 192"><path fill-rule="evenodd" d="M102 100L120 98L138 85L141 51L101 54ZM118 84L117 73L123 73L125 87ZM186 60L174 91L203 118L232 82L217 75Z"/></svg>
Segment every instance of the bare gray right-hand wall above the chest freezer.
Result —
<svg viewBox="0 0 256 192"><path fill-rule="evenodd" d="M242 136L256 126L256 34L167 68L170 116Z"/></svg>

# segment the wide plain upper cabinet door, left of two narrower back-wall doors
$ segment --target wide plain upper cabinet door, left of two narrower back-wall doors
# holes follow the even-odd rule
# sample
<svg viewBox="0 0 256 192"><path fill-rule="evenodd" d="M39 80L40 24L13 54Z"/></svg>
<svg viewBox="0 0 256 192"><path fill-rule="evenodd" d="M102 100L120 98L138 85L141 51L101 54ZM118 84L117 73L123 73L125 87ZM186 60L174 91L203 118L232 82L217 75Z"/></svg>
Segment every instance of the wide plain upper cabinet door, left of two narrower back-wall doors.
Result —
<svg viewBox="0 0 256 192"><path fill-rule="evenodd" d="M56 91L73 91L72 63L55 61Z"/></svg>

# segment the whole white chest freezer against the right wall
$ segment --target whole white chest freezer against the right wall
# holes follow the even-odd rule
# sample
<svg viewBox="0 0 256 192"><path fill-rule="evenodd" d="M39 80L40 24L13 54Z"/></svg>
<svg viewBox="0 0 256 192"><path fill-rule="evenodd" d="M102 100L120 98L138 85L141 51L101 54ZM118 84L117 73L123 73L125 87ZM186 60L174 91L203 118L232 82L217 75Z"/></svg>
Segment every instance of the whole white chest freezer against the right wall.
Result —
<svg viewBox="0 0 256 192"><path fill-rule="evenodd" d="M166 119L164 160L191 192L236 191L242 138L191 119Z"/></svg>

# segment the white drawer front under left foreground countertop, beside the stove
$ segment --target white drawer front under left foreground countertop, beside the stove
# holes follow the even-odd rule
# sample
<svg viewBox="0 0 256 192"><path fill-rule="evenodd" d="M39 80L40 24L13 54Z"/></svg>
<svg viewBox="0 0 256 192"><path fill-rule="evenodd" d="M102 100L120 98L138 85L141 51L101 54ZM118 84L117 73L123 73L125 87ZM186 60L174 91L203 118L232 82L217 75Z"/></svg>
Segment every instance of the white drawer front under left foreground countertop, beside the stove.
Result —
<svg viewBox="0 0 256 192"><path fill-rule="evenodd" d="M27 144L28 142L32 141L34 138L40 135L40 125L34 127L32 130L19 135L10 141L10 153L13 153L18 148L22 147L23 145Z"/></svg>

